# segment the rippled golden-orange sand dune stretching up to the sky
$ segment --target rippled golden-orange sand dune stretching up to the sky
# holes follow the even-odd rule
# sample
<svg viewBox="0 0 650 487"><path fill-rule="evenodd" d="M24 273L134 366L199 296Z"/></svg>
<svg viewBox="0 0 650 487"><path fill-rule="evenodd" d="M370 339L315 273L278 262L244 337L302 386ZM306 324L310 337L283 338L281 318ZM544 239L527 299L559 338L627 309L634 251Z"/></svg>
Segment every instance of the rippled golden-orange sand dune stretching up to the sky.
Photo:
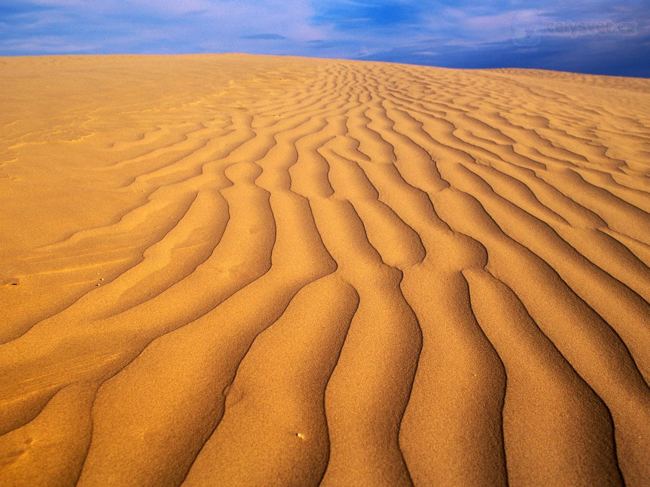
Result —
<svg viewBox="0 0 650 487"><path fill-rule="evenodd" d="M650 485L650 80L0 69L0 485Z"/></svg>

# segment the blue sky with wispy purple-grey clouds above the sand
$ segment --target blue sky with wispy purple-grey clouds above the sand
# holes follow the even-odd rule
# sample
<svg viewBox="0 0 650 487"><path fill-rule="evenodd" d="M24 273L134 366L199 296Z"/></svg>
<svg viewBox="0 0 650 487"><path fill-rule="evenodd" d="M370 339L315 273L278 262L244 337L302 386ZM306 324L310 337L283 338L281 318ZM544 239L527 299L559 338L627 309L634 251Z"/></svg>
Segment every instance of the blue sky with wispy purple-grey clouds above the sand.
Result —
<svg viewBox="0 0 650 487"><path fill-rule="evenodd" d="M0 55L227 52L650 77L650 0L0 0Z"/></svg>

